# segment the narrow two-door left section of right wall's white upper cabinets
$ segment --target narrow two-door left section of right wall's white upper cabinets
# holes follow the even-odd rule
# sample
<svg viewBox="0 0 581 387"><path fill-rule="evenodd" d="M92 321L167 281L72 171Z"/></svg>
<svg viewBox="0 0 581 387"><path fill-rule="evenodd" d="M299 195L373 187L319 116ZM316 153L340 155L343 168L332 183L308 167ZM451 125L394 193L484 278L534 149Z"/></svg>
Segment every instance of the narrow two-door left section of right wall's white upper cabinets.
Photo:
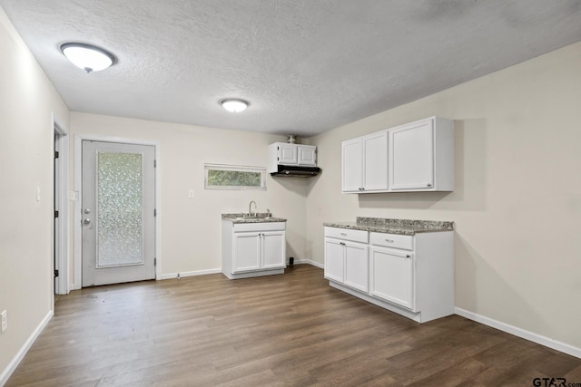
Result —
<svg viewBox="0 0 581 387"><path fill-rule="evenodd" d="M341 147L343 192L388 189L387 131L343 141Z"/></svg>

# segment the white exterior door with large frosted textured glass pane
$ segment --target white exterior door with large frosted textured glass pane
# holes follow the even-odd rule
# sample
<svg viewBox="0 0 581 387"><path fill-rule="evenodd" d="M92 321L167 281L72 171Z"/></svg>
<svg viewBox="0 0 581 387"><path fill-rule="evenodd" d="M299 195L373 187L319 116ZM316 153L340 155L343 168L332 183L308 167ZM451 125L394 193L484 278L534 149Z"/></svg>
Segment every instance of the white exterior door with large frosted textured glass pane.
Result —
<svg viewBox="0 0 581 387"><path fill-rule="evenodd" d="M83 141L83 286L155 278L155 149Z"/></svg>

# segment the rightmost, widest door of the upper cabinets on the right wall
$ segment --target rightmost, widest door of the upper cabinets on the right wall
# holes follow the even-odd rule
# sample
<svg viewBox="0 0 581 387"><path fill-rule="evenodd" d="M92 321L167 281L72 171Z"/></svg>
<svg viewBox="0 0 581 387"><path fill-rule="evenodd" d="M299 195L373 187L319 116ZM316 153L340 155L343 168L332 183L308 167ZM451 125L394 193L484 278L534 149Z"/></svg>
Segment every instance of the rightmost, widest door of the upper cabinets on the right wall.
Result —
<svg viewBox="0 0 581 387"><path fill-rule="evenodd" d="M415 122L389 131L389 187L433 189L432 120Z"/></svg>

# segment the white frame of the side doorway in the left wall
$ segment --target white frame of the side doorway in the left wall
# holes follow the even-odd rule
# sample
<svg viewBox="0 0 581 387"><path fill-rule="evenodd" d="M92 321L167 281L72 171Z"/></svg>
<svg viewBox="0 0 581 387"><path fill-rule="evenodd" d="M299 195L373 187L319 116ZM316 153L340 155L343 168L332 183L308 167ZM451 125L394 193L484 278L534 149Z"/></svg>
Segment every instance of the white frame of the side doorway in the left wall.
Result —
<svg viewBox="0 0 581 387"><path fill-rule="evenodd" d="M71 136L64 127L63 121L54 116L54 112L51 114L51 127L53 128L53 152L59 152L58 176L53 176L53 192L56 190L59 193L58 198L54 198L54 202L58 203L59 221L58 226L54 227L53 220L53 243L55 244L53 251L56 253L53 262L56 262L56 267L53 267L51 276L54 276L54 270L58 269L58 277L56 281L53 280L53 294L68 295L71 290L69 282L69 139Z"/></svg>

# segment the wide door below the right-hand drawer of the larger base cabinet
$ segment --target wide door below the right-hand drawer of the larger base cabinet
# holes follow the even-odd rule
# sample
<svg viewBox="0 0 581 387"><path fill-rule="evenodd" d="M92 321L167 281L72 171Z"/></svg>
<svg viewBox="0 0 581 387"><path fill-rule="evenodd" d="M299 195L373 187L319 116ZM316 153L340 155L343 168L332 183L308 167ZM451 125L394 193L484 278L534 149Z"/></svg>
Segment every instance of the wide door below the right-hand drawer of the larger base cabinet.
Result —
<svg viewBox="0 0 581 387"><path fill-rule="evenodd" d="M371 247L369 256L369 294L415 311L413 255Z"/></svg>

